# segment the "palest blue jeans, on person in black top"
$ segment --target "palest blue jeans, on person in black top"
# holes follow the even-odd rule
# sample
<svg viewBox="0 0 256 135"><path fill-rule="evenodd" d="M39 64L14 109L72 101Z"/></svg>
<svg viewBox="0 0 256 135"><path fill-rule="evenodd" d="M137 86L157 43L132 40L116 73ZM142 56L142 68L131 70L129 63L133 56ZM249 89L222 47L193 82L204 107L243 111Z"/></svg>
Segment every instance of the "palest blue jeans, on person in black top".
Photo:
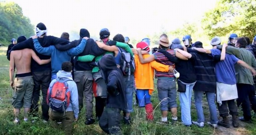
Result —
<svg viewBox="0 0 256 135"><path fill-rule="evenodd" d="M191 125L191 97L195 84L186 85L186 92L180 92L181 121L183 125Z"/></svg>

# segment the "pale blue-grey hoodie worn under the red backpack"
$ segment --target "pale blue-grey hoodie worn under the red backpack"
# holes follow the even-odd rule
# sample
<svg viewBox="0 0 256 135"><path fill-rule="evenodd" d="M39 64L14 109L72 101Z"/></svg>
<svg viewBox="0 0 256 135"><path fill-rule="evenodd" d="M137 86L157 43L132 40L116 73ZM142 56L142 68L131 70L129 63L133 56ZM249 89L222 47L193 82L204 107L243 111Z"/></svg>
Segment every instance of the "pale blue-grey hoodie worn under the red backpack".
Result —
<svg viewBox="0 0 256 135"><path fill-rule="evenodd" d="M77 91L77 85L72 79L71 72L66 71L59 71L57 72L57 78L68 78L72 81L67 81L67 85L69 86L68 89L70 90L70 103L69 106L66 109L67 111L73 112L74 111L74 117L78 118L79 113L79 107L78 107L78 91ZM56 82L56 79L52 80L50 86L52 86Z"/></svg>

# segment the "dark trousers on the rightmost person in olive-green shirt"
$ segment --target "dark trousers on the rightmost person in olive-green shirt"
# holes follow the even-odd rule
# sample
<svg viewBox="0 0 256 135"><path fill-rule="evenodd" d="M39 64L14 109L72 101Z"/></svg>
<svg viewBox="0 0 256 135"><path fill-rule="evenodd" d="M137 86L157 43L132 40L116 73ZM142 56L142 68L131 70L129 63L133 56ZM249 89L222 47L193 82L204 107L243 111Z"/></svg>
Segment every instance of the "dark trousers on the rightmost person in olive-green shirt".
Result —
<svg viewBox="0 0 256 135"><path fill-rule="evenodd" d="M242 104L242 109L244 112L244 119L250 120L252 115L250 114L250 104L252 104L252 109L256 112L256 97L253 85L249 84L237 84L238 100L237 106Z"/></svg>

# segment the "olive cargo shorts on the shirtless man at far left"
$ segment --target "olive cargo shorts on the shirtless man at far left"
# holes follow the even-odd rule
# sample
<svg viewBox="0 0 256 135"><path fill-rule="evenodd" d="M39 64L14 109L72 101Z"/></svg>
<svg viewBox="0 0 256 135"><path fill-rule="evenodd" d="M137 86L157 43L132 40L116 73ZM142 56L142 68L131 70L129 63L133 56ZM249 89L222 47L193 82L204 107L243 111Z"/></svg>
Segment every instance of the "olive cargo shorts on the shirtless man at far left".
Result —
<svg viewBox="0 0 256 135"><path fill-rule="evenodd" d="M33 76L15 78L12 93L12 106L15 109L30 108L34 88Z"/></svg>

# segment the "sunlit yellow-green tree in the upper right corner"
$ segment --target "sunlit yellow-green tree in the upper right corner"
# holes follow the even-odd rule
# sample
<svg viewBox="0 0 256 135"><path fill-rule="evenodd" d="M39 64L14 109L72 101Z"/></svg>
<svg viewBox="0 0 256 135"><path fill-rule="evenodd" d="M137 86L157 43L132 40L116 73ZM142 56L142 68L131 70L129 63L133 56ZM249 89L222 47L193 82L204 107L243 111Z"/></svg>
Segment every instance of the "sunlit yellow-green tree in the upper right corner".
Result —
<svg viewBox="0 0 256 135"><path fill-rule="evenodd" d="M255 0L219 0L214 9L205 13L202 27L209 37L228 36L252 39L256 34Z"/></svg>

